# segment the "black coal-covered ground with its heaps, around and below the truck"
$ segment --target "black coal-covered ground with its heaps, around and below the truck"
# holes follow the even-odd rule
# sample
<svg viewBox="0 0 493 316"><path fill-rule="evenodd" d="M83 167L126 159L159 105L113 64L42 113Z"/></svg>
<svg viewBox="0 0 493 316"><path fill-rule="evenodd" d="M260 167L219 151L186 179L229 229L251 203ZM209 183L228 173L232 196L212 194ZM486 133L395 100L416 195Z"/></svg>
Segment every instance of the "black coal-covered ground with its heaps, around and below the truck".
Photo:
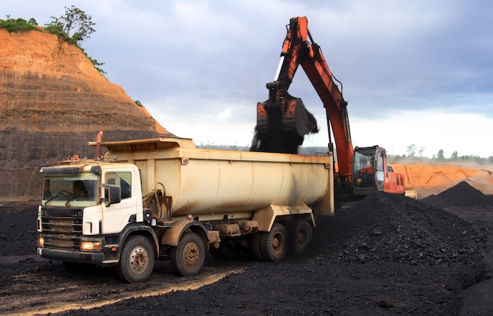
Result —
<svg viewBox="0 0 493 316"><path fill-rule="evenodd" d="M374 194L317 218L300 257L208 255L196 277L157 262L142 284L39 258L37 208L4 203L0 314L493 315L492 201L466 182L421 201Z"/></svg>

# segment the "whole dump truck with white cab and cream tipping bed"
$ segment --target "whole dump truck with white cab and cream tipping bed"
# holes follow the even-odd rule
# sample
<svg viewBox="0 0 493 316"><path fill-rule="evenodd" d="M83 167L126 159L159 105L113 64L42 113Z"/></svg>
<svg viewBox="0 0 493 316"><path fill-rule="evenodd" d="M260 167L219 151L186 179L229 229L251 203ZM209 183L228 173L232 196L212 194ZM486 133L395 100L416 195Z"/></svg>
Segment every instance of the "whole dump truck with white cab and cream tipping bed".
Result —
<svg viewBox="0 0 493 316"><path fill-rule="evenodd" d="M316 215L333 215L332 153L220 151L192 139L95 142L96 158L42 167L37 253L112 265L144 282L155 260L198 274L207 251L275 262L304 251ZM101 156L101 148L108 151Z"/></svg>

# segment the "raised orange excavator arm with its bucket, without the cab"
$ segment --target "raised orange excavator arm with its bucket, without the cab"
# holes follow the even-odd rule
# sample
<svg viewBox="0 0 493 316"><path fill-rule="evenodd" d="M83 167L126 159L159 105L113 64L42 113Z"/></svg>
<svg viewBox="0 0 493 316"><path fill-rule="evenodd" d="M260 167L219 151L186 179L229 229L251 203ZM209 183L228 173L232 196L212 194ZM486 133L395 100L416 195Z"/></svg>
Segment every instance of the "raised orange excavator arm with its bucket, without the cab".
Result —
<svg viewBox="0 0 493 316"><path fill-rule="evenodd" d="M344 187L352 187L354 149L349 130L347 102L344 101L339 87L332 80L332 72L320 51L320 46L313 41L308 31L306 17L292 18L289 21L275 81L267 84L269 99L257 105L257 138L264 143L270 142L270 150L263 148L264 150L280 151L280 148L273 148L272 144L282 143L280 139L287 143L297 139L301 144L305 134L316 132L316 120L313 115L304 108L301 99L293 98L287 93L299 65L323 101L327 114L331 151L333 145L330 125L332 125L339 167L337 177L343 182ZM299 141L300 137L301 141ZM296 147L299 144L296 144Z"/></svg>

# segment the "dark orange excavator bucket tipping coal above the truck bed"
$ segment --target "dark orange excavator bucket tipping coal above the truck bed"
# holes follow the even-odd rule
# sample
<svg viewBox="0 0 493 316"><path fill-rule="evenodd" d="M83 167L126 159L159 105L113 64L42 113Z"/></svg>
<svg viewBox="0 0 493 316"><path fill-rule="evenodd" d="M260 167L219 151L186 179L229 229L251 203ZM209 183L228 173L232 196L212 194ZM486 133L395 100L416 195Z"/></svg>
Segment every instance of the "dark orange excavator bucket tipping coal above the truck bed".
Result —
<svg viewBox="0 0 493 316"><path fill-rule="evenodd" d="M310 132L318 132L316 119L306 110L303 101L291 96L281 103L258 103L256 128L260 137L269 137L276 132L282 137L304 137Z"/></svg>

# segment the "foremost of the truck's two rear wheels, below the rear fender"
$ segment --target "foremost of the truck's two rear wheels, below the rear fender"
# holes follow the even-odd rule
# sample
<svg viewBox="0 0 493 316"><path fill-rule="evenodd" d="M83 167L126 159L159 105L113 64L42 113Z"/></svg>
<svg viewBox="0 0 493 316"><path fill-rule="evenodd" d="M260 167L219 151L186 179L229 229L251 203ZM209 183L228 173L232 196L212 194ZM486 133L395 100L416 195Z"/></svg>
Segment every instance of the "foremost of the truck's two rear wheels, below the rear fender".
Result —
<svg viewBox="0 0 493 316"><path fill-rule="evenodd" d="M260 251L264 260L276 262L285 258L287 253L287 230L280 223L274 223L270 232L260 235Z"/></svg>

